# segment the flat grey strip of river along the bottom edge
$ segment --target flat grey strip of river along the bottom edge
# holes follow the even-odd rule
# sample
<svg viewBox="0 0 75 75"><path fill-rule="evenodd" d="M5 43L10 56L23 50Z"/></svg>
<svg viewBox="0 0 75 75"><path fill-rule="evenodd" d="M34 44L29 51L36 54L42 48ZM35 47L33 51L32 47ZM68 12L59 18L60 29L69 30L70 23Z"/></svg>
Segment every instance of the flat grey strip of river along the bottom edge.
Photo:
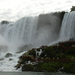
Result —
<svg viewBox="0 0 75 75"><path fill-rule="evenodd" d="M75 75L75 74L46 73L46 72L0 72L0 75Z"/></svg>

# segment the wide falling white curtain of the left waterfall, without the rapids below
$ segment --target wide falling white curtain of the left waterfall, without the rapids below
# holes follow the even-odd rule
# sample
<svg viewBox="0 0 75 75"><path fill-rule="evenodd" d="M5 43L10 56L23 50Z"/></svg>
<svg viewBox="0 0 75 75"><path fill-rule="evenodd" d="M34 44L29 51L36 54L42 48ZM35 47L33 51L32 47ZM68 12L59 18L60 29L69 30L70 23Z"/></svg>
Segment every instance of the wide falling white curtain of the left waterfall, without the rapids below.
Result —
<svg viewBox="0 0 75 75"><path fill-rule="evenodd" d="M16 21L13 26L8 28L4 37L9 42L20 42L23 41L25 44L29 44L32 40L32 36L35 36L37 17L23 17Z"/></svg>

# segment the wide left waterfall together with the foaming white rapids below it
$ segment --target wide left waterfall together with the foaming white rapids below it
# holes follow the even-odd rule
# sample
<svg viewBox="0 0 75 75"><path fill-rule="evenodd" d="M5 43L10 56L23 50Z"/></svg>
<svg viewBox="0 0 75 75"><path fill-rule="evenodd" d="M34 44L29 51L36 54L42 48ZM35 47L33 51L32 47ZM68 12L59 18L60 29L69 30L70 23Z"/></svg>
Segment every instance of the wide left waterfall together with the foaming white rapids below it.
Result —
<svg viewBox="0 0 75 75"><path fill-rule="evenodd" d="M15 52L17 51L19 46L31 44L31 41L35 38L37 21L37 17L24 17L16 21L13 25L0 25L1 36L7 42L6 44L3 44L3 49L5 51L3 51L3 57L0 57L0 71L15 71L14 66L17 64L18 57L19 55L22 55L22 53L24 53L25 51L19 54ZM5 46L8 49L5 49ZM5 58L5 52L12 52L12 57ZM9 61L10 59L12 59L12 61Z"/></svg>

